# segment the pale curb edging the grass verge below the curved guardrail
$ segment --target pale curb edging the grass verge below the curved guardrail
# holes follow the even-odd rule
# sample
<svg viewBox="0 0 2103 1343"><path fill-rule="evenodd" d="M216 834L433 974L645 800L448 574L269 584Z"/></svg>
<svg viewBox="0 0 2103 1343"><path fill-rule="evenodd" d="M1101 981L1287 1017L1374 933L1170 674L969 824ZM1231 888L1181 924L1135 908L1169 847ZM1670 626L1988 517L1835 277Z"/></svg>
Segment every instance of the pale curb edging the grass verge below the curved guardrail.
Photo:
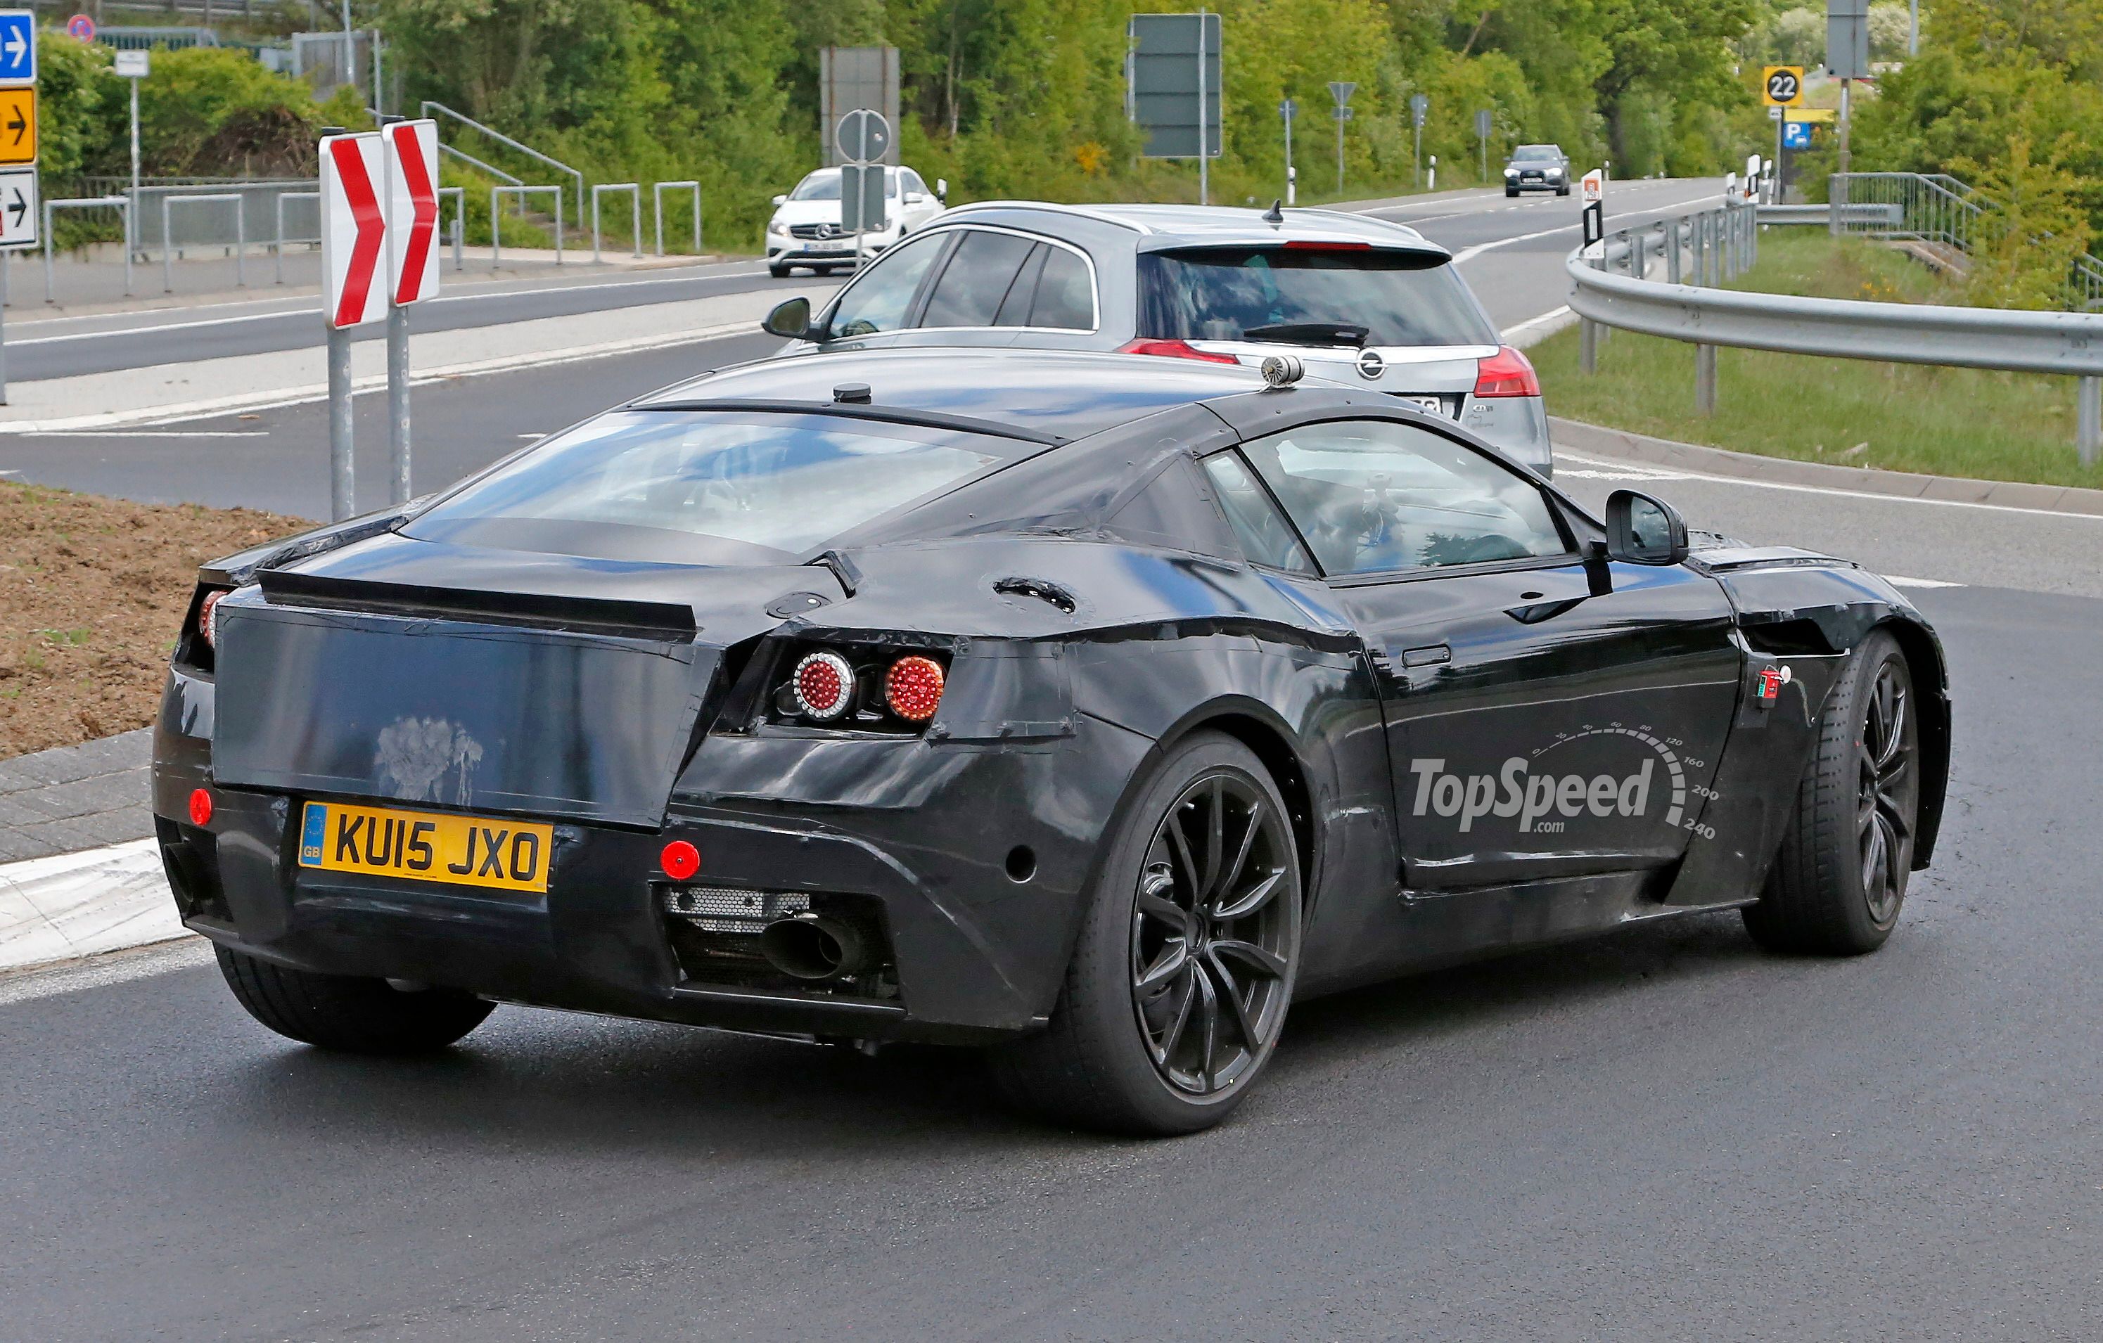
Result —
<svg viewBox="0 0 2103 1343"><path fill-rule="evenodd" d="M1891 494L1895 498L1922 498L1949 504L1992 504L1998 509L2027 509L2034 513L2076 513L2103 517L2103 490L2082 485L2034 485L2027 481L1981 481L1962 475L1916 475L1912 471L1878 471L1874 467L1832 467L1825 462L1798 462L1781 456L1758 456L1752 452L1731 452L1727 448L1703 448L1699 443L1678 443L1657 439L1628 429L1607 429L1548 416L1548 437L1556 448L1573 452L1605 452L1655 467L1680 467L1706 475L1729 475L1737 479L1775 481L1788 485L1817 485L1825 490L1853 490L1857 494Z"/></svg>

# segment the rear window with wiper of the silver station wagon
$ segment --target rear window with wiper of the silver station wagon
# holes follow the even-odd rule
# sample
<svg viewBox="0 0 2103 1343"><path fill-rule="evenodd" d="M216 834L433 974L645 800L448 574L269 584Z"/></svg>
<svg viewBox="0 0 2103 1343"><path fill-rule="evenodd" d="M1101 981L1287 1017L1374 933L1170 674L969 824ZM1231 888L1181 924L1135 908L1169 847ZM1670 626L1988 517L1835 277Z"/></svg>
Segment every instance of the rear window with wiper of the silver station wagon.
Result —
<svg viewBox="0 0 2103 1343"><path fill-rule="evenodd" d="M1140 332L1241 340L1266 326L1367 328L1367 345L1495 345L1445 256L1382 248L1180 248L1140 254Z"/></svg>

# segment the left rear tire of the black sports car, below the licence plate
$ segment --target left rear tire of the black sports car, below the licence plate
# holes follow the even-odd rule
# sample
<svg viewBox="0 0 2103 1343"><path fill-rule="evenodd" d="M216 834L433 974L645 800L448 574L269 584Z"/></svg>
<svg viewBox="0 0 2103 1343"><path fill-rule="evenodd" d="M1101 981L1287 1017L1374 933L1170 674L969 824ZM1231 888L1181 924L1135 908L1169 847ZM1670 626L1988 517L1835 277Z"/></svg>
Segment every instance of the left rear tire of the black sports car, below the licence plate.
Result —
<svg viewBox="0 0 2103 1343"><path fill-rule="evenodd" d="M248 1015L278 1034L345 1053L429 1053L496 1007L450 988L404 992L385 979L318 975L215 948L219 973Z"/></svg>

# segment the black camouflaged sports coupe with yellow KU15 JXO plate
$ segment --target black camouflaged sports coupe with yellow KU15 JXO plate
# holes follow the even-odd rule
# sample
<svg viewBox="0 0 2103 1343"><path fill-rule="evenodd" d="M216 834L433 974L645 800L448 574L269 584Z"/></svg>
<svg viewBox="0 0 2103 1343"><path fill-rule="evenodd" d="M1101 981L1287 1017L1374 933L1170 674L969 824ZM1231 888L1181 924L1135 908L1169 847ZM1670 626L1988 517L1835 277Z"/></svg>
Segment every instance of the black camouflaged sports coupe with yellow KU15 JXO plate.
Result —
<svg viewBox="0 0 2103 1343"><path fill-rule="evenodd" d="M1949 752L1891 584L1295 374L774 359L206 565L183 921L322 1047L496 1000L936 1040L1142 1133L1295 996L1720 908L1891 933Z"/></svg>

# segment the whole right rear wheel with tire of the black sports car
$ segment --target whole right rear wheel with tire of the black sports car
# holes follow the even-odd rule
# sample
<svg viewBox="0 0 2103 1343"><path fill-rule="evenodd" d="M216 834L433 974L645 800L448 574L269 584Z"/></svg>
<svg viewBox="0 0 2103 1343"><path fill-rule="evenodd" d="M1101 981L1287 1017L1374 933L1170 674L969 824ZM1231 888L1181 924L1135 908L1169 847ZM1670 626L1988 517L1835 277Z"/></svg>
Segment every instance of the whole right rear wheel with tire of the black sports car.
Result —
<svg viewBox="0 0 2103 1343"><path fill-rule="evenodd" d="M995 1051L995 1082L1085 1129L1209 1129L1270 1061L1298 971L1285 801L1247 746L1192 734L1104 853L1049 1028Z"/></svg>

